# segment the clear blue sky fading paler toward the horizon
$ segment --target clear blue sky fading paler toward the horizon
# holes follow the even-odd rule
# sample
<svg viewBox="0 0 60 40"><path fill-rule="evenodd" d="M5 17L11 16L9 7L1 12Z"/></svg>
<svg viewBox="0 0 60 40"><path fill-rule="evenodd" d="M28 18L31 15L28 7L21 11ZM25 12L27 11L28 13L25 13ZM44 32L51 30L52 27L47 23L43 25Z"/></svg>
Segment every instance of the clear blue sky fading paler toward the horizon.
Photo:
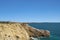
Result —
<svg viewBox="0 0 60 40"><path fill-rule="evenodd" d="M60 22L60 0L0 0L0 21Z"/></svg>

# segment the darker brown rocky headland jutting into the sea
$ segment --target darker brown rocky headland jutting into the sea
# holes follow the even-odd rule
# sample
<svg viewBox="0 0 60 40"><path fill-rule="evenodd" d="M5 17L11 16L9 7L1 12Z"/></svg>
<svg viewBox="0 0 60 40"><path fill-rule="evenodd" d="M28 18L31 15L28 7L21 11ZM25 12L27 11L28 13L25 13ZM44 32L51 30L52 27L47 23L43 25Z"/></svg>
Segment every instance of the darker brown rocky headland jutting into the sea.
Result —
<svg viewBox="0 0 60 40"><path fill-rule="evenodd" d="M39 30L39 29L33 28L25 23L22 23L21 25L27 31L27 33L29 34L29 37L41 37L41 36L49 37L50 36L50 32L48 30Z"/></svg>

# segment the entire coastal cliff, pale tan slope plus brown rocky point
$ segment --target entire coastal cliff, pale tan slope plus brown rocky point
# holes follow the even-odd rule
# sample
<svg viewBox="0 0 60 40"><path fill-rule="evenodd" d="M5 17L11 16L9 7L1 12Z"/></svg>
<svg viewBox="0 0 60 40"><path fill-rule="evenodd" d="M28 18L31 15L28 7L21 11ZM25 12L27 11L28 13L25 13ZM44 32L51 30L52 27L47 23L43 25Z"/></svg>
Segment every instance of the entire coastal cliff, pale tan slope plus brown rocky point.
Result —
<svg viewBox="0 0 60 40"><path fill-rule="evenodd" d="M27 23L0 22L0 40L30 40L31 37L48 37L48 30L39 30Z"/></svg>

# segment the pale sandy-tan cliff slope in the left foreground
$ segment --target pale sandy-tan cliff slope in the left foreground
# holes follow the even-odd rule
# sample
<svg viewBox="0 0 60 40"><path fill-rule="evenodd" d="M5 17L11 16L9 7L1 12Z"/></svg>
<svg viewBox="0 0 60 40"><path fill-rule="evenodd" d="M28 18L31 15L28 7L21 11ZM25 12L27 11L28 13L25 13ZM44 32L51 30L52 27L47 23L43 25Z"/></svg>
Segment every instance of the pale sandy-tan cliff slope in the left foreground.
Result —
<svg viewBox="0 0 60 40"><path fill-rule="evenodd" d="M0 40L29 40L29 35L19 23L0 23Z"/></svg>

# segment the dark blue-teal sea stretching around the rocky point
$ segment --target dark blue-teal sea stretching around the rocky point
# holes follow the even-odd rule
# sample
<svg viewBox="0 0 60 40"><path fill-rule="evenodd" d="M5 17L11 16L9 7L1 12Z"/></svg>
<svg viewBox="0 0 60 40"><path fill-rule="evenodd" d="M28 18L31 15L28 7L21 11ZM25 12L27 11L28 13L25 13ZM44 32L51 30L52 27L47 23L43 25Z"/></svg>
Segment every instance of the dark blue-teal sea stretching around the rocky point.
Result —
<svg viewBox="0 0 60 40"><path fill-rule="evenodd" d="M34 38L34 40L60 40L60 23L29 23L29 25L37 29L50 31L50 37L39 37Z"/></svg>

